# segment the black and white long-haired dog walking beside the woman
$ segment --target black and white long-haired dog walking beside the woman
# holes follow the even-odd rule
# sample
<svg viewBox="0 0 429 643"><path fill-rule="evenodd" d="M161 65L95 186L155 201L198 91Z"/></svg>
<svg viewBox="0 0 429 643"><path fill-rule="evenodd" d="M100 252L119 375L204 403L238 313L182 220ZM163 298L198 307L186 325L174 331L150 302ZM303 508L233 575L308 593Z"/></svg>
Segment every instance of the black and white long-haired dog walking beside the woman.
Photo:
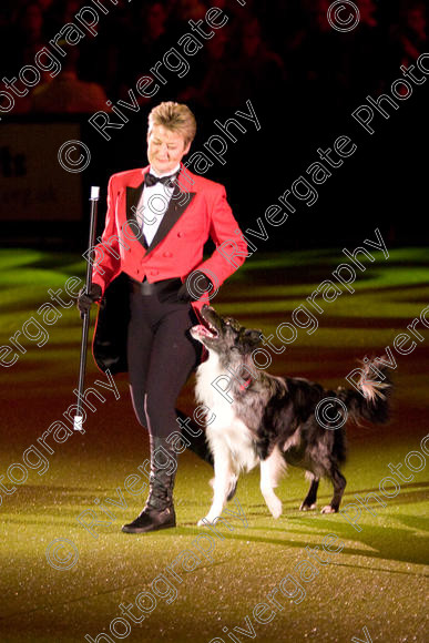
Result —
<svg viewBox="0 0 429 643"><path fill-rule="evenodd" d="M197 524L213 523L239 472L257 465L261 491L274 518L282 514L282 501L274 489L287 465L305 469L310 480L302 511L316 509L319 480L326 477L334 486L334 496L321 512L337 512L346 487L339 470L346 459L346 436L339 425L346 419L356 423L387 421L391 381L386 367L375 359L362 363L361 392L343 387L326 390L304 378L268 375L255 369L252 358L263 339L261 330L223 318L211 306L201 313L206 326L193 326L191 335L205 346L208 358L197 368L195 396L207 408L206 439L215 478L212 507ZM319 402L325 398L338 404L335 418L327 409L320 418Z"/></svg>

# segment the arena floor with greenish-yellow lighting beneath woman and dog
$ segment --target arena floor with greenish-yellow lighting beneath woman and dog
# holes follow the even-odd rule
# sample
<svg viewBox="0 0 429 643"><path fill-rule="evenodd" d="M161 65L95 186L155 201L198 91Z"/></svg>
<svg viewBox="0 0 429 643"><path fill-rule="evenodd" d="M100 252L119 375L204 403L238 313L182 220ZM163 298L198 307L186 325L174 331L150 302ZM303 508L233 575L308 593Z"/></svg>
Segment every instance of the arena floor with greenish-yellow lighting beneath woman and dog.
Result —
<svg viewBox="0 0 429 643"><path fill-rule="evenodd" d="M27 470L23 452L54 421L64 419L62 414L75 401L79 315L74 306L59 305L61 318L49 325L38 309L50 302L49 288L64 288L68 278L83 276L84 266L78 255L1 251L1 344L13 349L10 354L4 350L2 357L11 359L16 353L18 359L0 372L0 473L6 476L12 463L21 463L21 468L10 469L17 480L14 492L2 480L9 491L2 491L0 508L0 640L427 641L429 476L420 442L429 433L429 331L417 326L423 339L416 339L409 355L399 355L394 348L395 338L428 306L427 255L427 248L397 248L388 259L381 252L374 253L376 261L365 263L365 272L357 275L356 292L341 286L341 295L325 302L323 314L315 313L317 330L308 335L299 329L284 353L273 355L269 367L276 375L345 386L357 359L381 355L389 346L396 358L391 421L381 427L349 427L343 506L356 504L355 494L381 496L380 481L391 476L389 463L402 463L408 481L395 478L400 488L397 493L392 484L385 483L386 494L391 496L381 496L386 507L370 502L372 513L361 511L358 531L343 514L298 511L307 482L297 469L289 469L279 487L284 513L274 520L261 496L258 473L253 471L241 479L236 502L228 507L239 517L229 514L231 520L218 528L221 535L212 533L212 540L204 540L198 535L207 532L196 522L210 506L212 476L210 467L192 453L181 456L177 473L178 527L142 537L121 533L121 524L133 519L144 503L143 496L125 490L124 481L137 473L137 466L149 455L124 376L115 379L121 398L116 400L112 390L103 389L105 401L94 401L96 411L89 412L85 433L64 432L63 443L50 439L54 452L48 456L41 449L49 470L40 476L29 469L25 483L18 483ZM275 334L315 288L333 279L333 271L344 261L344 255L326 249L254 256L223 286L213 304L222 314L261 328L266 336ZM63 300L67 304L70 297L64 295ZM25 329L38 339L18 336L25 353L17 351L10 338L31 318L39 327L28 324ZM91 361L86 386L96 379L105 381ZM191 381L178 405L188 414L195 406L192 391ZM412 478L406 459L416 469ZM116 503L106 503L106 498ZM329 499L330 488L324 482L319 507ZM103 500L110 516L100 509ZM93 533L78 521L86 510L98 512ZM320 555L323 562L310 559L308 580L300 581L304 590L297 590L295 598L277 591L272 595L277 605L267 603L267 594L286 576L288 591L296 586L290 576L299 579L295 568L308 560L306 548L319 545L316 551L323 551L327 534L337 537L331 541L340 551ZM54 558L57 539L62 549ZM195 549L196 542L213 549L204 557ZM166 573L166 567L180 554L181 564L174 568L178 581ZM184 567L193 571L184 571ZM165 574L164 582L160 574ZM137 595L142 611L135 606ZM259 603L268 605L265 611L254 611ZM120 604L123 610L130 605L134 621L139 614L144 618L140 623L131 616L124 619ZM100 636L102 632L105 636Z"/></svg>

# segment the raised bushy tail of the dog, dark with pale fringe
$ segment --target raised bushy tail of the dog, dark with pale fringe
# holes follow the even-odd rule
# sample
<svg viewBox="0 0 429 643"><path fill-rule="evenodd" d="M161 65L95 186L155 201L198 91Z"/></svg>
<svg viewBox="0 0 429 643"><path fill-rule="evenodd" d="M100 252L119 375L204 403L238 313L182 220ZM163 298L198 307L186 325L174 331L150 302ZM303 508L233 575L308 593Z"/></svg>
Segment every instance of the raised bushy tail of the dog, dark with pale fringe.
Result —
<svg viewBox="0 0 429 643"><path fill-rule="evenodd" d="M350 420L356 423L360 423L361 420L384 423L389 419L392 384L386 369L387 367L380 365L377 358L361 361L356 389L337 389L337 396L345 402Z"/></svg>

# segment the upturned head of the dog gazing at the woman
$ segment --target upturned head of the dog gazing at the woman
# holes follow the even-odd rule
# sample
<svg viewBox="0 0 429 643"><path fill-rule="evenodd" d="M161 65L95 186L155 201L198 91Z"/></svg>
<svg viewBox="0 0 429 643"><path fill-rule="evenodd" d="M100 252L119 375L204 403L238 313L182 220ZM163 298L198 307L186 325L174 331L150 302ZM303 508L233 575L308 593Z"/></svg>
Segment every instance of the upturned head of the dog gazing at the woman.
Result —
<svg viewBox="0 0 429 643"><path fill-rule="evenodd" d="M244 357L262 343L261 330L247 329L232 317L221 317L212 306L203 306L201 314L208 328L193 326L191 335L219 356L234 351Z"/></svg>

